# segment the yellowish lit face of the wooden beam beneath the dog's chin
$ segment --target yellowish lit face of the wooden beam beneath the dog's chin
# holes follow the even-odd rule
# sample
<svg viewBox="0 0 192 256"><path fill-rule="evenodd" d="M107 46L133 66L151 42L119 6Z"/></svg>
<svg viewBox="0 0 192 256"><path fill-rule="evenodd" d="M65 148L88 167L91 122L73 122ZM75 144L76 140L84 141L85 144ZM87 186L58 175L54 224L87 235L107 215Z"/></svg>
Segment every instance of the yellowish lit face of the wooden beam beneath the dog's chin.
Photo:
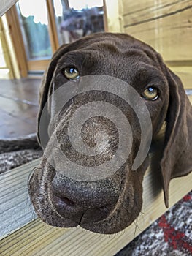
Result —
<svg viewBox="0 0 192 256"><path fill-rule="evenodd" d="M137 219L137 225L134 223L123 232L115 235L101 235L82 230L80 227L68 229L50 227L36 219L2 239L0 241L0 255L114 255L166 211L162 192L155 195L154 188L151 187L151 183L155 179L157 179L155 173L149 170L143 183L142 215ZM156 181L155 187L158 184L158 180ZM171 182L170 206L190 191L191 181L192 173L183 178L175 178ZM23 206L26 207L26 203ZM11 215L9 218L12 218L14 224L15 215ZM29 217L28 221L31 219ZM4 222L5 218L1 219L1 223L2 220Z"/></svg>

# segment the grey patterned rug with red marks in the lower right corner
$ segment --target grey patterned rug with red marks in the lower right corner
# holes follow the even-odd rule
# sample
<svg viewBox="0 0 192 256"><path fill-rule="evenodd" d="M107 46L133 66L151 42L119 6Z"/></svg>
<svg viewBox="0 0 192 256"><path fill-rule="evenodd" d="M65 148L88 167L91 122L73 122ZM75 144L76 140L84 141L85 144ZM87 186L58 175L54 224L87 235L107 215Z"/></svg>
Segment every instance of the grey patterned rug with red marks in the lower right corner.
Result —
<svg viewBox="0 0 192 256"><path fill-rule="evenodd" d="M185 195L116 256L142 255L192 255L192 192Z"/></svg>

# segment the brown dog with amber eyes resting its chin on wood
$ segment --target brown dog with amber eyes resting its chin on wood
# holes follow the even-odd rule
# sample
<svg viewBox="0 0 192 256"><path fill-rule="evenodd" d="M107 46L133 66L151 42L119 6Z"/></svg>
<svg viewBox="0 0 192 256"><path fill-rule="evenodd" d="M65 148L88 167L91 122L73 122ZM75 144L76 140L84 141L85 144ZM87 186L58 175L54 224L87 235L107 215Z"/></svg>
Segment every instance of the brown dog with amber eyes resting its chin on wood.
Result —
<svg viewBox="0 0 192 256"><path fill-rule="evenodd" d="M142 137L137 113L124 99L106 90L72 94L73 97L68 97L69 101L58 115L55 114L57 99L50 99L54 91L66 85L59 95L61 101L70 90L84 86L84 77L91 76L94 82L96 75L121 80L137 91L150 113L153 131L151 148L153 140L163 132L161 145L158 146L162 146L159 153L161 159L155 165L161 167L166 206L171 178L185 176L192 170L192 108L180 78L166 67L161 56L149 45L126 34L93 34L61 46L54 54L40 92L38 138L45 154L29 181L31 201L38 216L49 225L80 225L96 233L117 233L130 225L141 211L142 179L150 165L146 148L145 159L137 170L132 170ZM133 96L129 94L128 97ZM70 166L61 161L62 155L55 149L53 135L56 135L60 150L71 162L81 165L82 171L86 167L85 173L87 167L110 161L118 150L120 137L114 122L101 114L89 118L81 130L84 143L90 148L97 147L96 156L80 154L70 143L67 134L69 120L78 108L88 102L107 102L118 107L131 125L133 139L130 142L131 152L118 170L105 178L98 176L85 181L62 173L62 168L66 170ZM104 108L103 111L106 110ZM143 109L140 112L144 120L145 116L147 119L147 113ZM101 131L105 132L104 135ZM128 133L124 132L125 138L128 137ZM96 134L100 136L97 141ZM102 169L101 173L107 171Z"/></svg>

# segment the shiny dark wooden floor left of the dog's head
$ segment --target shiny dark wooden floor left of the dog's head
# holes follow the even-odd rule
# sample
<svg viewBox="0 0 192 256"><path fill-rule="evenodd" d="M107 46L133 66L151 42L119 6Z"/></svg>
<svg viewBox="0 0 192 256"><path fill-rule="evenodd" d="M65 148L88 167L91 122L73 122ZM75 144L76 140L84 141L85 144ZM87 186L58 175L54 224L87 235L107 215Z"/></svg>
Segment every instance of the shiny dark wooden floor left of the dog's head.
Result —
<svg viewBox="0 0 192 256"><path fill-rule="evenodd" d="M0 80L0 138L36 132L40 81Z"/></svg>

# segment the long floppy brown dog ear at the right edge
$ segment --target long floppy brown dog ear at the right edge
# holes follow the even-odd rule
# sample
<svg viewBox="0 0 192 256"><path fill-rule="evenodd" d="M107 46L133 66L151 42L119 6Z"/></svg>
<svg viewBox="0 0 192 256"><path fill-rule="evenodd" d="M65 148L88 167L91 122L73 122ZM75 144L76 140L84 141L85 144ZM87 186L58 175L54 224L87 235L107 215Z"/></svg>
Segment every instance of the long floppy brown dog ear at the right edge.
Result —
<svg viewBox="0 0 192 256"><path fill-rule="evenodd" d="M192 170L192 106L180 78L168 68L166 78L169 83L169 107L161 173L164 200L168 207L171 178L185 176Z"/></svg>

